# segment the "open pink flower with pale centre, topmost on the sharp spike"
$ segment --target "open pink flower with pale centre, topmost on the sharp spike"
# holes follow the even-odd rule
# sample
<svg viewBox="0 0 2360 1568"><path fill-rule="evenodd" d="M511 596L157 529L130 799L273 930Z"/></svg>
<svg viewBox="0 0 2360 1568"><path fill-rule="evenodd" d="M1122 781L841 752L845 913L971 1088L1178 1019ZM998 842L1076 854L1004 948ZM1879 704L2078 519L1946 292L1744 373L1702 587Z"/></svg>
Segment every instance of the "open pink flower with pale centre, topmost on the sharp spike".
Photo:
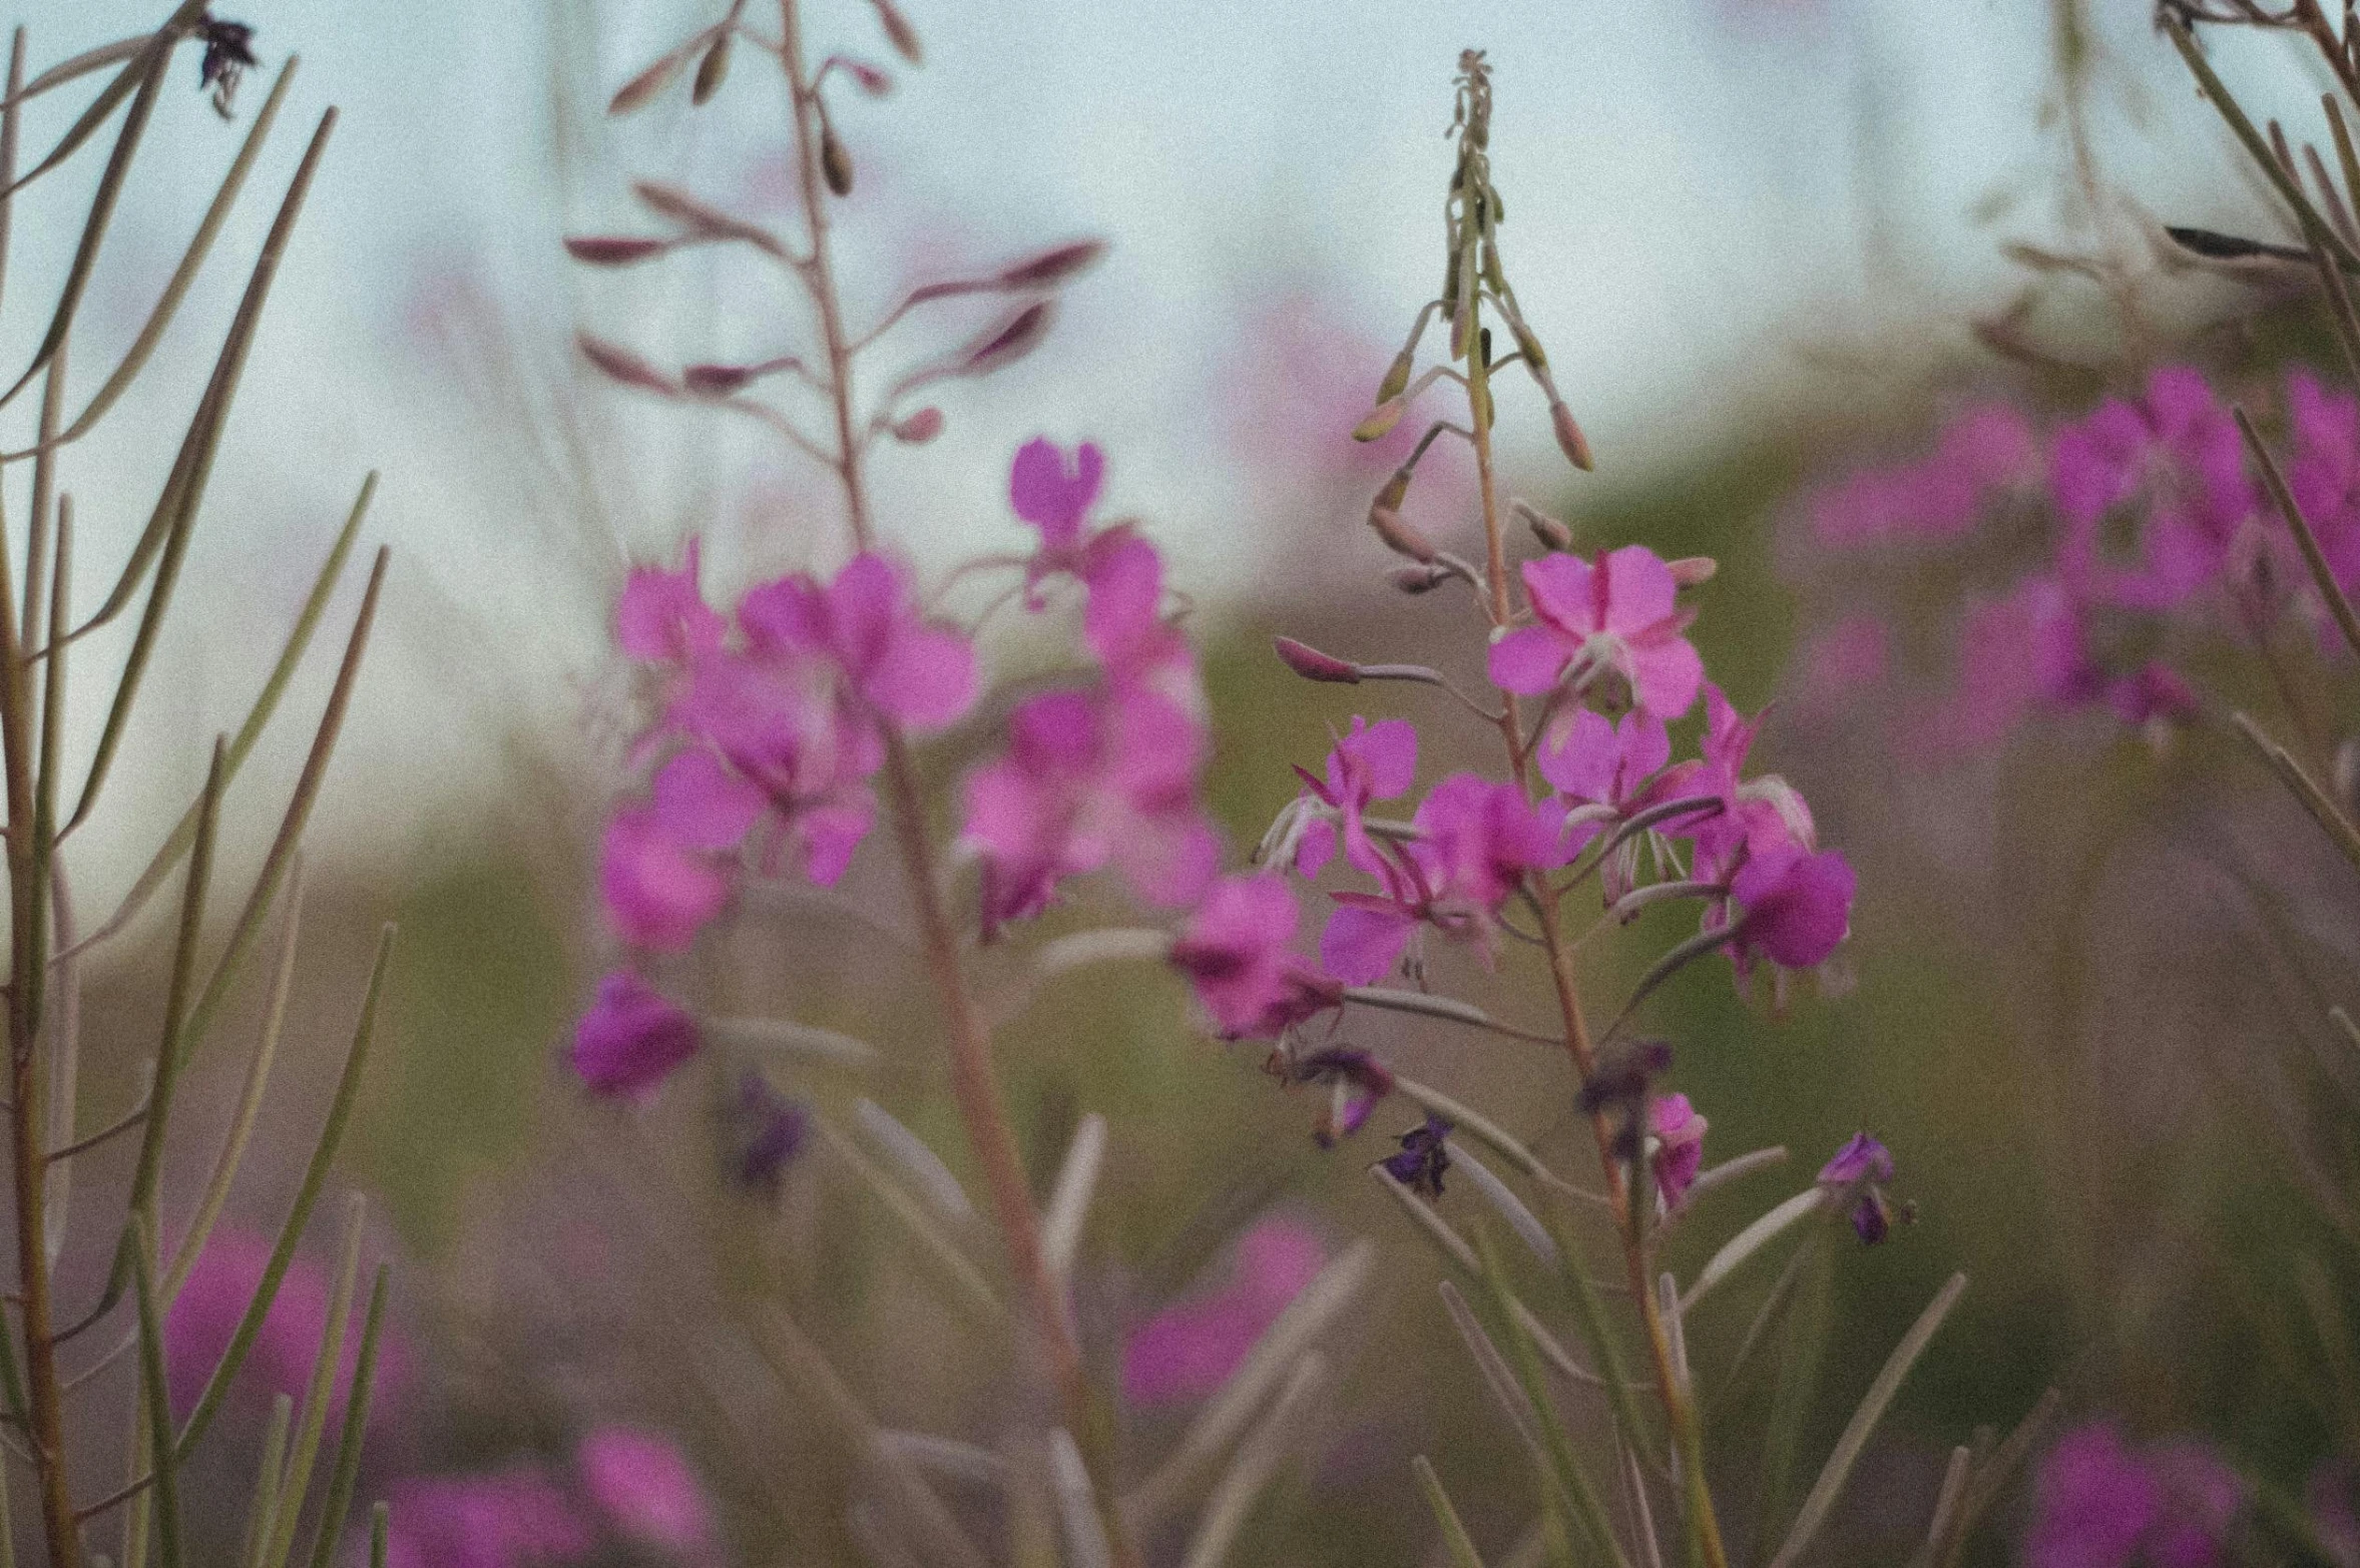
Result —
<svg viewBox="0 0 2360 1568"><path fill-rule="evenodd" d="M1602 552L1595 564L1569 554L1525 561L1525 592L1536 625L1492 644L1492 684L1541 693L1581 660L1576 679L1617 674L1631 698L1661 719L1697 700L1704 660L1683 637L1671 568L1645 545Z"/></svg>

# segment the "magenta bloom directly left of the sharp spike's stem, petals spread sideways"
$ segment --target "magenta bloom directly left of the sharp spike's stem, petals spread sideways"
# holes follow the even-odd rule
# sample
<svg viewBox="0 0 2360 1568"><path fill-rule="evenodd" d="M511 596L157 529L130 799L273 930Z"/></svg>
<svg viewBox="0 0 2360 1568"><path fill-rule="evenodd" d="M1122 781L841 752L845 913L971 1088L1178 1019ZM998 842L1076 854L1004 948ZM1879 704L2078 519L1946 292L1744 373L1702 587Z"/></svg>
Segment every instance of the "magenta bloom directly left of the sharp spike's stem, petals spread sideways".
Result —
<svg viewBox="0 0 2360 1568"><path fill-rule="evenodd" d="M1418 837L1378 863L1383 894L1329 894L1340 908L1319 936L1319 962L1350 986L1383 979L1421 924L1473 941L1489 960L1499 905L1527 872L1565 865L1565 809L1532 804L1513 783L1451 773L1428 792Z"/></svg>

